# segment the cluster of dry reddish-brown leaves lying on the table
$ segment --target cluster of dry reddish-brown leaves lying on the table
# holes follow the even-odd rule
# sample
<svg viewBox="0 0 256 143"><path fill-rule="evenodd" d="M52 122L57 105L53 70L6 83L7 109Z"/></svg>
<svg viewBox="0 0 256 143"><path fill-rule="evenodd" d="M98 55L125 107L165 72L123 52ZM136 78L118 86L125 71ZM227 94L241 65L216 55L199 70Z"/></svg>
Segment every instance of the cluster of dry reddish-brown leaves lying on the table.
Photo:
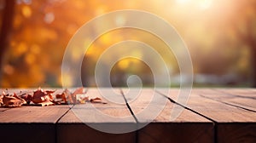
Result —
<svg viewBox="0 0 256 143"><path fill-rule="evenodd" d="M0 106L3 107L16 107L22 105L38 105L38 106L51 106L61 104L84 104L86 102L91 103L103 103L101 98L90 99L89 96L84 96L86 93L83 88L75 89L71 92L65 89L59 94L55 94L56 90L45 90L38 88L35 91L20 94L7 94L2 92L0 94Z"/></svg>

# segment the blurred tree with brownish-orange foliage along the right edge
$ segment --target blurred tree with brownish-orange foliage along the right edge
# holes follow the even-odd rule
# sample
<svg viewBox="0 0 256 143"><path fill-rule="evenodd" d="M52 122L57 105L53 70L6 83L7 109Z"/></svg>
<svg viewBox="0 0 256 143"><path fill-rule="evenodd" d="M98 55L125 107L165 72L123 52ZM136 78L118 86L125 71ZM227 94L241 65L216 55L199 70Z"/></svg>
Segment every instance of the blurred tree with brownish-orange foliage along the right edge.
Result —
<svg viewBox="0 0 256 143"><path fill-rule="evenodd" d="M241 2L236 9L236 16L230 20L230 26L233 26L237 37L243 44L250 48L251 66L250 79L253 88L256 88L256 2L247 0Z"/></svg>

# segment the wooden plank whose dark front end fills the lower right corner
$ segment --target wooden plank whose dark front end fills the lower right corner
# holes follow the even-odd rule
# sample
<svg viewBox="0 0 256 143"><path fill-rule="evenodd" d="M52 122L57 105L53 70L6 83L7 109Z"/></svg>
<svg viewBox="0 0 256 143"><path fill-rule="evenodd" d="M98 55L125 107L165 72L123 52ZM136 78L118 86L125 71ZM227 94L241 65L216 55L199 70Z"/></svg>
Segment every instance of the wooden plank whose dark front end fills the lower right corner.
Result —
<svg viewBox="0 0 256 143"><path fill-rule="evenodd" d="M256 134L255 112L249 112L236 106L230 106L201 96L213 96L213 94L218 94L218 92L211 89L193 89L189 102L185 106L212 118L216 122L218 142L234 142L233 136L239 137L240 140L254 140ZM175 94L169 94L169 96L177 98ZM245 125L246 128L241 128L243 127L241 124ZM248 132L251 134L247 134Z"/></svg>

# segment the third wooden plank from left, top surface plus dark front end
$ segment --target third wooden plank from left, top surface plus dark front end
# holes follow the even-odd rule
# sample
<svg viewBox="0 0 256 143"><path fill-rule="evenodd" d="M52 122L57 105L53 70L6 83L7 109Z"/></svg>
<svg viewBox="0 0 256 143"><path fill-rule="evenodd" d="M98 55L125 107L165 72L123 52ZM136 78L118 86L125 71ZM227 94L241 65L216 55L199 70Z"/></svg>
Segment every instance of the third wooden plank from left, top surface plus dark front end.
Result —
<svg viewBox="0 0 256 143"><path fill-rule="evenodd" d="M161 108L154 120L138 131L138 142L212 142L213 123L206 118L183 109L183 112L172 120L174 105L165 96L154 92L153 89L143 89L141 92L138 92L138 89L123 90L131 110L137 117L138 128L150 122L154 117L153 112L159 112L158 109ZM163 102L166 102L166 105Z"/></svg>

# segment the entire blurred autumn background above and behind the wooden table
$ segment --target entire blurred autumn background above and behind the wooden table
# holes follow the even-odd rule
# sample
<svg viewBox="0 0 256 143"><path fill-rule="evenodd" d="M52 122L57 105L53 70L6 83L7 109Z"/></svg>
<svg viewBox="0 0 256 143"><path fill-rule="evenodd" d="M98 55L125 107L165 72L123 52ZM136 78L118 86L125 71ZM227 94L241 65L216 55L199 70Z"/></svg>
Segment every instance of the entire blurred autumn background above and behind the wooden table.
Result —
<svg viewBox="0 0 256 143"><path fill-rule="evenodd" d="M88 20L121 9L157 14L177 29L191 55L195 87L256 87L254 0L0 0L0 87L61 87L62 57L73 34ZM120 29L97 38L84 54L84 86L95 86L102 52L129 39L158 50L172 75L168 86L179 85L177 60L165 43L146 31ZM143 61L124 59L113 66L113 86L125 86L131 74L154 85Z"/></svg>

